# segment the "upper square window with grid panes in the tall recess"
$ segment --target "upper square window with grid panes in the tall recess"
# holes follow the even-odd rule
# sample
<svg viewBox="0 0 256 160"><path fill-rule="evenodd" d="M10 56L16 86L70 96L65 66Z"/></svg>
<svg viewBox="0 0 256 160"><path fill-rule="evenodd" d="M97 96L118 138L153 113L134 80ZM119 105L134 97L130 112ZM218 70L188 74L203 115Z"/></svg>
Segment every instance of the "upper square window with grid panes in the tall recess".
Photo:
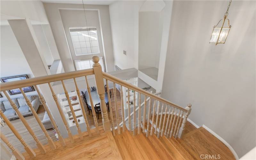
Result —
<svg viewBox="0 0 256 160"><path fill-rule="evenodd" d="M76 56L100 53L96 27L69 28Z"/></svg>

